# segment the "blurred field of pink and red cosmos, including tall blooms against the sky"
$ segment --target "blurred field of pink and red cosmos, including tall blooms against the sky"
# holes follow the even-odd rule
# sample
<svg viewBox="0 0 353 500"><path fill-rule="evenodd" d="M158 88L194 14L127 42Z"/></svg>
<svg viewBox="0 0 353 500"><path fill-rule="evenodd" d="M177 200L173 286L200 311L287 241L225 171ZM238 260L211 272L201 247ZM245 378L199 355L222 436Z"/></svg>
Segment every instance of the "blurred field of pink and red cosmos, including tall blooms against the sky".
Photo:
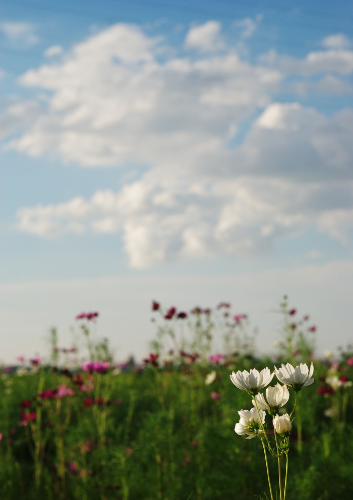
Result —
<svg viewBox="0 0 353 500"><path fill-rule="evenodd" d="M276 378L273 366L288 361L295 365L313 357L313 339L308 337L313 325L304 318L295 319L297 311L293 313L287 302L281 309L283 337L273 357L255 355L246 315L233 315L228 306L210 312L201 308L178 312L176 308L162 311L154 302L152 308L157 315L157 338L140 364L132 360L114 363L106 341L91 340L90 329L97 316L85 315L77 319L89 356L85 361L70 357L76 354L76 347L58 348L53 332L50 362L21 358L16 369L3 367L1 498L270 497L262 443L260 439L245 439L249 429L240 425L255 406L246 390L237 385L248 383L244 377L240 379L242 370L266 367L271 373L263 371L267 379L261 379L262 386L273 377L271 383L277 388L266 392L269 403L264 395L255 397L261 408L258 411L264 415L266 438L284 435L291 448L286 498L350 497L352 350L342 351L337 359L313 359L314 383L309 378L312 373L308 373L297 386L291 424L281 415L292 413L293 388L287 371L279 368ZM213 349L221 334L225 342L222 353ZM230 380L233 371L238 375L234 373ZM284 383L285 377L288 389L278 383ZM307 386L302 389L304 383ZM265 418L265 409L272 403L273 414L278 411L275 427L268 420L270 415ZM244 412L238 423L241 409L251 412ZM263 427L254 428L249 432L261 437ZM277 463L269 460L269 468L275 492L279 489Z"/></svg>

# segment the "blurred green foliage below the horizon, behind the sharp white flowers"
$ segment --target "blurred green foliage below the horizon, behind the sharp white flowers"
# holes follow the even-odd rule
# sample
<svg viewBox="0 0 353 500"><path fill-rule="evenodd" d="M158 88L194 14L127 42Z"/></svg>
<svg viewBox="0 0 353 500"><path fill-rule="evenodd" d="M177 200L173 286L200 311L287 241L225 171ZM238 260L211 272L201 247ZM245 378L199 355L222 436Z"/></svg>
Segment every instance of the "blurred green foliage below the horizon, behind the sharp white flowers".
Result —
<svg viewBox="0 0 353 500"><path fill-rule="evenodd" d="M261 359L252 363L264 367ZM238 359L236 368L244 367L248 359ZM213 369L216 378L206 385ZM352 379L353 367L345 370ZM324 415L329 398L317 393L327 371L315 362L316 382L299 394L288 500L347 500L353 490L352 388L340 432ZM234 432L237 410L250 406L228 367L184 363L81 376L91 391L80 389L76 374L49 368L1 376L2 498L251 500L268 490L261 443ZM63 384L75 394L36 397ZM85 404L88 397L95 402ZM29 409L19 407L24 400ZM19 425L29 410L36 419ZM276 477L276 463L270 467Z"/></svg>

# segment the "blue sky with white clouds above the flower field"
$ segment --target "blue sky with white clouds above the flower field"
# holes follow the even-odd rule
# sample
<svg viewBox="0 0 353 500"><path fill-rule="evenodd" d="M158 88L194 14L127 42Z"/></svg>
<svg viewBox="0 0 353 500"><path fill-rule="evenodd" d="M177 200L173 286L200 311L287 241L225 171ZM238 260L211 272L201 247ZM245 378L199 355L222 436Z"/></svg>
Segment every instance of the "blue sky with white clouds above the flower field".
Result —
<svg viewBox="0 0 353 500"><path fill-rule="evenodd" d="M75 315L142 357L165 307L284 294L352 341L353 5L1 2L0 360Z"/></svg>

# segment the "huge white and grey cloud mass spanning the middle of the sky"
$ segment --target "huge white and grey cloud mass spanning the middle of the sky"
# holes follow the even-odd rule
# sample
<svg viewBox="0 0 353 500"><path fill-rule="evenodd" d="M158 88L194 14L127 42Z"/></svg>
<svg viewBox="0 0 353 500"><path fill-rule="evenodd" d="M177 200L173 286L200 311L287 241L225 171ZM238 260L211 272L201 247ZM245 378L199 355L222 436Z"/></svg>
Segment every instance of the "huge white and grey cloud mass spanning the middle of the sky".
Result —
<svg viewBox="0 0 353 500"><path fill-rule="evenodd" d="M115 24L27 71L20 82L47 97L7 107L7 147L148 170L119 192L21 208L18 229L121 232L135 267L266 252L313 226L344 241L353 220L353 111L328 118L296 99L276 100L293 73L307 89L316 75L329 91L350 91L341 76L353 71L353 52L339 41L304 59L271 52L250 63L225 45L216 21L192 27L179 56L138 26Z"/></svg>

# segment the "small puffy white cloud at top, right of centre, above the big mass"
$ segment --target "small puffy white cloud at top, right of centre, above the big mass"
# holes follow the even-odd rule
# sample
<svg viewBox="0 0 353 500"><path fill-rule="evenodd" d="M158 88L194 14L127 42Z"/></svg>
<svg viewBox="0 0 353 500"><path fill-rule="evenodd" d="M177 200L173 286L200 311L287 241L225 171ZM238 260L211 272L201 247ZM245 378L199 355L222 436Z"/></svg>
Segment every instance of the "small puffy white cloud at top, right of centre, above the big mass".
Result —
<svg viewBox="0 0 353 500"><path fill-rule="evenodd" d="M214 52L225 48L222 40L221 23L217 21L207 21L201 26L192 27L185 38L187 48L198 48L205 52Z"/></svg>

